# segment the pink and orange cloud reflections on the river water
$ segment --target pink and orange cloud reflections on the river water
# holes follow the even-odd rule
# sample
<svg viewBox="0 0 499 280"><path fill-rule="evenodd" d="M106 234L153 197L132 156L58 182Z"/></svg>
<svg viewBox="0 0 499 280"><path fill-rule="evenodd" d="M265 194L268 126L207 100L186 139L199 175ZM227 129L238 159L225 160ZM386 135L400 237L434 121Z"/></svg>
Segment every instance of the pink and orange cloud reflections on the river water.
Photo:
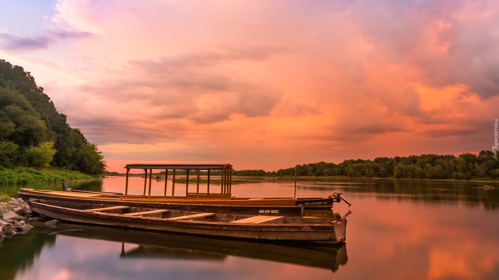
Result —
<svg viewBox="0 0 499 280"><path fill-rule="evenodd" d="M122 191L123 177L110 177L106 191ZM141 192L143 178L131 177ZM171 182L170 182L171 183ZM164 181L153 180L160 191ZM171 184L169 185L169 187ZM106 183L104 185L106 187ZM234 185L238 196L276 196L293 191L292 182ZM450 189L450 188L449 188ZM330 188L298 187L298 196L322 196ZM344 194L354 206L335 204L335 213L352 210L348 219L348 263L338 279L497 279L498 211L469 208L460 202L380 199L373 194ZM432 195L427 195L432 196ZM353 209L354 208L354 209ZM331 215L323 211L324 215ZM82 231L83 232L83 231ZM125 244L125 250L135 244ZM308 279L331 278L331 271L229 256L223 262L120 258L121 243L57 235L18 280L53 279ZM254 268L258 269L255 270Z"/></svg>

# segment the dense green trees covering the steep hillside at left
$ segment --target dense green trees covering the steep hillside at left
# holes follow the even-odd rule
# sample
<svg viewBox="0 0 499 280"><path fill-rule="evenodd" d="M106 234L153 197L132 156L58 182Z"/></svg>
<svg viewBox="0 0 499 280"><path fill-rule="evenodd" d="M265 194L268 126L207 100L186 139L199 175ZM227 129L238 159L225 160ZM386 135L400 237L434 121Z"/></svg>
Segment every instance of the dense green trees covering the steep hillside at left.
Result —
<svg viewBox="0 0 499 280"><path fill-rule="evenodd" d="M29 72L0 60L0 168L16 166L98 175L106 164L97 146L68 125Z"/></svg>

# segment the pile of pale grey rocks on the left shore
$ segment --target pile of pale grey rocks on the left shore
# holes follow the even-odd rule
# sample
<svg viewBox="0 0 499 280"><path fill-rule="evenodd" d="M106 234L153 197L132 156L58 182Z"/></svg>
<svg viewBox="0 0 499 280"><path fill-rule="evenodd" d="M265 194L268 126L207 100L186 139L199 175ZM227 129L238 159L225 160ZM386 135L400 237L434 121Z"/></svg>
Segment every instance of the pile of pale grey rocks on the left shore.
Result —
<svg viewBox="0 0 499 280"><path fill-rule="evenodd" d="M26 233L33 226L27 224L31 210L21 198L10 198L8 203L0 202L0 241L17 233Z"/></svg>

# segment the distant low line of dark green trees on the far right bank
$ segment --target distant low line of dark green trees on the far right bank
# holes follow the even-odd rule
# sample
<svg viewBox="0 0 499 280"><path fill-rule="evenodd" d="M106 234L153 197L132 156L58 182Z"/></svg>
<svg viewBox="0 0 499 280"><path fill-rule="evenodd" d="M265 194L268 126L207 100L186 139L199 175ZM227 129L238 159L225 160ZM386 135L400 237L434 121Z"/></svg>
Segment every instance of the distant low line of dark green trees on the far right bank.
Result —
<svg viewBox="0 0 499 280"><path fill-rule="evenodd" d="M347 176L406 179L496 179L499 161L492 151L479 154L454 155L422 154L370 159L346 159L341 163L324 161L297 165L298 176ZM264 170L234 171L234 176L294 176L295 167Z"/></svg>

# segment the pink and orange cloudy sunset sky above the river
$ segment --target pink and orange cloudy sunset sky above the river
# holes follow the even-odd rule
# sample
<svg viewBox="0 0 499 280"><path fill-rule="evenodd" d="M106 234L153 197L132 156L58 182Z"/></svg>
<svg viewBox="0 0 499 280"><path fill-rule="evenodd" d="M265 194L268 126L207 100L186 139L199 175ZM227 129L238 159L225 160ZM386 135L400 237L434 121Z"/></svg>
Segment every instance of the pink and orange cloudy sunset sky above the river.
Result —
<svg viewBox="0 0 499 280"><path fill-rule="evenodd" d="M125 163L492 149L499 1L2 3L0 58Z"/></svg>

